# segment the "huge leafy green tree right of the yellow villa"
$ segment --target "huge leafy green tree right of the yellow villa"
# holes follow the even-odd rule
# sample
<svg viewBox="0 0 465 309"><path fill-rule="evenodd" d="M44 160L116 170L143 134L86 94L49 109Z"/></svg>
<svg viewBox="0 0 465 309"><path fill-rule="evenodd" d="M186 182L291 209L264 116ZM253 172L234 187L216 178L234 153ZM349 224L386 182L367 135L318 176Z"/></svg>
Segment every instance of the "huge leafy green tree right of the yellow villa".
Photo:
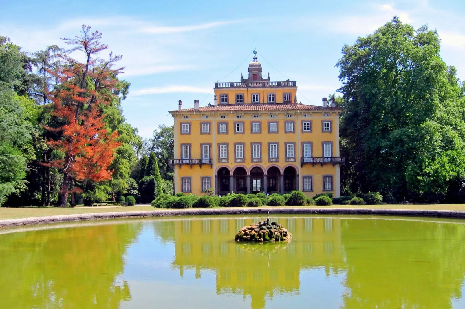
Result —
<svg viewBox="0 0 465 309"><path fill-rule="evenodd" d="M345 45L342 169L353 192L446 194L465 177L464 100L436 31L398 17Z"/></svg>

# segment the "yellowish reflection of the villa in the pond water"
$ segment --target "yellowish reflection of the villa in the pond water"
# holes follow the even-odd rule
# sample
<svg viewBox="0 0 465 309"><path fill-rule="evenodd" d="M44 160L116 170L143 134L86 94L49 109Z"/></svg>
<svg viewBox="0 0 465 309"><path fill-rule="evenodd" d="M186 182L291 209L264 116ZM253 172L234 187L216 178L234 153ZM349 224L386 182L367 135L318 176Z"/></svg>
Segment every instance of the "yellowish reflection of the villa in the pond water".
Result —
<svg viewBox="0 0 465 309"><path fill-rule="evenodd" d="M198 278L201 270L215 270L217 293L250 295L252 308L263 308L266 295L298 294L301 269L324 267L329 275L344 268L340 219L280 219L292 231L291 243L236 244L233 235L254 221L259 220L172 222L169 234L175 240L173 266L179 268L181 276L185 269L195 270ZM276 248L281 246L282 250Z"/></svg>

